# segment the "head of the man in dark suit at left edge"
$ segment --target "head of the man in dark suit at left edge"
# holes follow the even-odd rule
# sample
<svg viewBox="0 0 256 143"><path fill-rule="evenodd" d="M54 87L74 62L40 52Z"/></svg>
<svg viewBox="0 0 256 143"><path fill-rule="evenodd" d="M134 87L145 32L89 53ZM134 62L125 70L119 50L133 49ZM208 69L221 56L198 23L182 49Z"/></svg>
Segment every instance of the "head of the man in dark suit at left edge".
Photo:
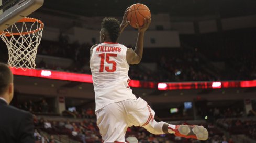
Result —
<svg viewBox="0 0 256 143"><path fill-rule="evenodd" d="M0 96L4 94L10 83L13 83L13 74L9 67L0 62Z"/></svg>

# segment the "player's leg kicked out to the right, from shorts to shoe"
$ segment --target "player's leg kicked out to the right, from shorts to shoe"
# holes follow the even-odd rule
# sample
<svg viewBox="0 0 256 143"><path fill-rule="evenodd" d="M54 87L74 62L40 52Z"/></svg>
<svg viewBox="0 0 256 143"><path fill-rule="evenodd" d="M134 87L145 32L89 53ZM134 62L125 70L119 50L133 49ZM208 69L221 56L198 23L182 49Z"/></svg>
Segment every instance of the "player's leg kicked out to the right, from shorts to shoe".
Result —
<svg viewBox="0 0 256 143"><path fill-rule="evenodd" d="M127 100L126 109L129 112L129 121L133 125L142 126L152 134L171 133L176 136L195 138L199 140L206 140L208 138L207 129L203 126L175 126L165 122L155 121L155 112L150 108L148 103L141 98L138 98L137 100Z"/></svg>

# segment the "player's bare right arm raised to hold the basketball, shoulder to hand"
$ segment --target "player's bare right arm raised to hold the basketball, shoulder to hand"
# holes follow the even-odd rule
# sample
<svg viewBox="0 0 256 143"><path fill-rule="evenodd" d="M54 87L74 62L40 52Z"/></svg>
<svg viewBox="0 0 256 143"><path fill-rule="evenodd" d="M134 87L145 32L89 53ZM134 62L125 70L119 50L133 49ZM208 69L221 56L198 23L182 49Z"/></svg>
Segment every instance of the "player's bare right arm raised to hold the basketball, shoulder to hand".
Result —
<svg viewBox="0 0 256 143"><path fill-rule="evenodd" d="M143 54L144 33L148 29L150 22L151 22L151 18L147 17L147 18L144 18L144 25L142 27L139 27L137 24L139 33L138 33L135 49L133 50L132 48L128 48L126 52L126 60L128 64L140 63L140 60L142 59L142 54Z"/></svg>

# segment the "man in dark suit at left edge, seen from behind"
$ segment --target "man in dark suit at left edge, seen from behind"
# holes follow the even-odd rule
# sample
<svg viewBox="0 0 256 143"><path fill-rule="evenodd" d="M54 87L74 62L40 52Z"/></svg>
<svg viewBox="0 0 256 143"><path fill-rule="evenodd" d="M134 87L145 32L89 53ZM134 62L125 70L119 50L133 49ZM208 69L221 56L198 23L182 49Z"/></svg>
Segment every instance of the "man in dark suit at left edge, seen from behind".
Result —
<svg viewBox="0 0 256 143"><path fill-rule="evenodd" d="M13 94L13 74L0 63L0 142L34 143L32 114L9 105Z"/></svg>

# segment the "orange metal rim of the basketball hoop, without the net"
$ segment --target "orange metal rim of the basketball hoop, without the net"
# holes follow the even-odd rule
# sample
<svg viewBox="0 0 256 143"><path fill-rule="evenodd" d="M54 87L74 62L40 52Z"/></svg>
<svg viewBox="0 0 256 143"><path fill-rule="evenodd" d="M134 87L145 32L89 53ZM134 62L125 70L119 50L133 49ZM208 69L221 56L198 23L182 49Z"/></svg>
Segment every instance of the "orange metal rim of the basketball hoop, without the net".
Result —
<svg viewBox="0 0 256 143"><path fill-rule="evenodd" d="M12 32L5 32L5 31L3 31L0 34L5 34L5 36L7 36L7 37L10 37L12 35L14 35L14 36L28 35L28 34L31 34L31 33L38 32L39 30L43 29L43 22L41 20L39 20L39 19L30 18L30 17L24 17L23 19L19 20L16 23L20 23L20 22L31 22L31 23L38 22L38 23L40 23L40 27L38 29L35 29L35 30L32 30L32 31L28 31L28 32L12 33Z"/></svg>

